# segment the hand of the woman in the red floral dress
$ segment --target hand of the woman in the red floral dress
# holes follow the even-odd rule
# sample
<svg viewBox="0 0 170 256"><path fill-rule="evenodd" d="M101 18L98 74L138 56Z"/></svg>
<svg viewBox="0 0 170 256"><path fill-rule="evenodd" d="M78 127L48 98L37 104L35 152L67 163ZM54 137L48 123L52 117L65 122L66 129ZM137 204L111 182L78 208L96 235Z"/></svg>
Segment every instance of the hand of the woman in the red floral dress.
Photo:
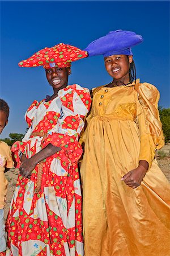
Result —
<svg viewBox="0 0 170 256"><path fill-rule="evenodd" d="M19 173L25 178L30 178L32 171L36 167L36 162L34 158L26 158L26 156L23 154L21 160L21 165L19 168Z"/></svg>

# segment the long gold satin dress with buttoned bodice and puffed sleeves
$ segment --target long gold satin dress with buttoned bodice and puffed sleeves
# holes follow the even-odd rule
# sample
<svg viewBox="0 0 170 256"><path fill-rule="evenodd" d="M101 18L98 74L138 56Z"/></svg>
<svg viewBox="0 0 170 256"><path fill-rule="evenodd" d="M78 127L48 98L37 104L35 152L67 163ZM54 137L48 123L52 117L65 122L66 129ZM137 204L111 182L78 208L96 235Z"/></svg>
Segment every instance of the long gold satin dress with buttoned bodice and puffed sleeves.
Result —
<svg viewBox="0 0 170 256"><path fill-rule="evenodd" d="M164 144L159 92L148 83L93 90L80 172L85 256L169 256L170 184L154 159ZM146 160L135 189L121 181Z"/></svg>

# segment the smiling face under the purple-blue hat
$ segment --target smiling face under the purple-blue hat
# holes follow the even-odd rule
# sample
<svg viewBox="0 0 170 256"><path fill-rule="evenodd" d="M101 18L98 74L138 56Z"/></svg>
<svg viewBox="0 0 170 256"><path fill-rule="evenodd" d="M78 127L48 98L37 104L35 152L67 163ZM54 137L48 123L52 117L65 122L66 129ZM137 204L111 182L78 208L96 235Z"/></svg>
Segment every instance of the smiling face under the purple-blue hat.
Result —
<svg viewBox="0 0 170 256"><path fill-rule="evenodd" d="M105 68L110 76L115 80L129 82L129 68L133 61L133 56L111 55L104 58Z"/></svg>

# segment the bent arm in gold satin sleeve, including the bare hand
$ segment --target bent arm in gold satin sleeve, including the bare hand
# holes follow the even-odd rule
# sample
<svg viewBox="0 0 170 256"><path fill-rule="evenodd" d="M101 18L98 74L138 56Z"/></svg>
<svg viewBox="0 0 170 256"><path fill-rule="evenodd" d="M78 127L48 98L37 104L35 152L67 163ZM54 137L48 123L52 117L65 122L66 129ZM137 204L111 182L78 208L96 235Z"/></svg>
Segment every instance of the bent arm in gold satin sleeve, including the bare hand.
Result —
<svg viewBox="0 0 170 256"><path fill-rule="evenodd" d="M143 177L154 160L155 151L164 144L162 124L159 118L159 92L155 86L143 83L135 85L137 97L137 125L139 128L141 147L139 166L129 171L121 180L131 188L141 185Z"/></svg>

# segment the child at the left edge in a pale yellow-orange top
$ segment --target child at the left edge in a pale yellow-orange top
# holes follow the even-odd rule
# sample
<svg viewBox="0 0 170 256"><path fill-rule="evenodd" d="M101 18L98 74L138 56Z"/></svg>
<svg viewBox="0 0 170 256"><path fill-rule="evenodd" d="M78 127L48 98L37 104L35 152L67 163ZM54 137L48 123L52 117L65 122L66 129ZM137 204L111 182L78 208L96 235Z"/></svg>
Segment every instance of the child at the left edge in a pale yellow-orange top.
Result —
<svg viewBox="0 0 170 256"><path fill-rule="evenodd" d="M0 134L8 123L9 107L0 99ZM6 234L4 224L4 207L8 181L5 172L13 167L10 147L0 140L0 255L6 255Z"/></svg>

